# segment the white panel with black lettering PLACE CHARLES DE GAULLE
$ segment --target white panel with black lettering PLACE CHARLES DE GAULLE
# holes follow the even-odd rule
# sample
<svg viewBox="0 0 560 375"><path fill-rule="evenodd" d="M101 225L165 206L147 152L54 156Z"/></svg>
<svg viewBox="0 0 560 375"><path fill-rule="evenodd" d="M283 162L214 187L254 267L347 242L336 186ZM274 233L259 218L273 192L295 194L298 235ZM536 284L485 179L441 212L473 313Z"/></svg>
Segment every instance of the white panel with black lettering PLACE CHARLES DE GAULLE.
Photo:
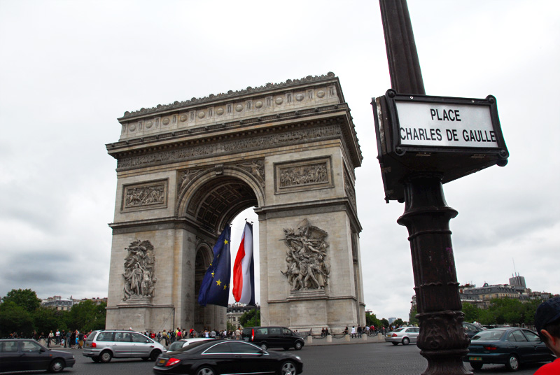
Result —
<svg viewBox="0 0 560 375"><path fill-rule="evenodd" d="M396 101L400 144L498 148L489 106Z"/></svg>

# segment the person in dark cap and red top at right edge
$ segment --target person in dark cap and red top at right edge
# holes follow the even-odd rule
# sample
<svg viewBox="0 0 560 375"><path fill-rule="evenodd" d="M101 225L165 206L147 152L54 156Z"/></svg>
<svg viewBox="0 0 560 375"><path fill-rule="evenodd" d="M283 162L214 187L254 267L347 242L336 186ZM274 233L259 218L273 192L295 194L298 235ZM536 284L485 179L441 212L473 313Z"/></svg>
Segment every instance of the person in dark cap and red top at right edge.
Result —
<svg viewBox="0 0 560 375"><path fill-rule="evenodd" d="M560 297L553 297L537 307L535 330L547 348L556 355L554 362L540 367L535 375L560 374Z"/></svg>

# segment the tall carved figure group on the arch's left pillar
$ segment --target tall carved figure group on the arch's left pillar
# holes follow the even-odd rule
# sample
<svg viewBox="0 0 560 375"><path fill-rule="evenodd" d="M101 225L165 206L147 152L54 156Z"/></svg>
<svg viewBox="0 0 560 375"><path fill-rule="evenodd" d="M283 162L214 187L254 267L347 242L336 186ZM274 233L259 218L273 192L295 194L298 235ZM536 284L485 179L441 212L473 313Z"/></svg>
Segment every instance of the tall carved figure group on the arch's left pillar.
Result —
<svg viewBox="0 0 560 375"><path fill-rule="evenodd" d="M150 299L154 296L155 282L154 276L155 256L153 246L150 241L133 241L125 257L125 288L123 301Z"/></svg>

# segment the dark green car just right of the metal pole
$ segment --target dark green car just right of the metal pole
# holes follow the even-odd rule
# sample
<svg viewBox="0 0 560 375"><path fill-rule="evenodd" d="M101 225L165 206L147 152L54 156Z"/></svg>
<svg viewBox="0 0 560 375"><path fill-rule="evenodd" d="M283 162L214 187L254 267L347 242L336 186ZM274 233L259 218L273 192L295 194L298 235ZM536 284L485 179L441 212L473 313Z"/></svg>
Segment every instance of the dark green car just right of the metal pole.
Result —
<svg viewBox="0 0 560 375"><path fill-rule="evenodd" d="M482 369L486 363L502 364L510 371L528 362L545 362L554 357L538 334L515 327L493 328L475 334L464 361L473 369Z"/></svg>

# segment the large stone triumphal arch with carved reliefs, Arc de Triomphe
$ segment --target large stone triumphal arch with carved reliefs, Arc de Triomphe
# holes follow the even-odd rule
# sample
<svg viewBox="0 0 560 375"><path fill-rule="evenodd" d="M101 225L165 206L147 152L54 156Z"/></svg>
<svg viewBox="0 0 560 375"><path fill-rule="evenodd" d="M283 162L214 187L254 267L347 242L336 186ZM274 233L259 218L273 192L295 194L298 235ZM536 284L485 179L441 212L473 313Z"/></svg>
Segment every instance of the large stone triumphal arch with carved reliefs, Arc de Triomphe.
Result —
<svg viewBox="0 0 560 375"><path fill-rule="evenodd" d="M262 325L365 324L354 190L362 155L333 73L118 121L120 139L106 145L118 178L107 328L224 329L225 308L200 307L198 290L218 235L251 207Z"/></svg>

